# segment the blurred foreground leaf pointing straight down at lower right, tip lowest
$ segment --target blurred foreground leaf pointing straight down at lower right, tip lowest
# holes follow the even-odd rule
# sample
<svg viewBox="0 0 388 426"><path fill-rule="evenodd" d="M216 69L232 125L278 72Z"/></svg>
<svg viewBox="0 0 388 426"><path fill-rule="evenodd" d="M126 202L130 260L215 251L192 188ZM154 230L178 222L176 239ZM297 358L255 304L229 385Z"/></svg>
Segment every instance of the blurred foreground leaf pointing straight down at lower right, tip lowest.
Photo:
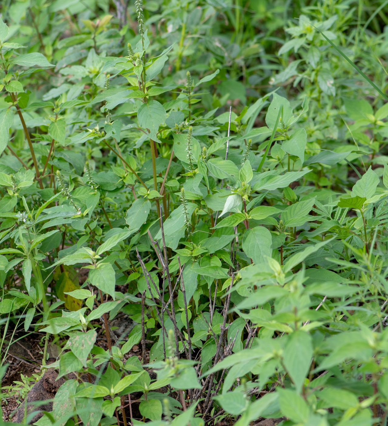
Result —
<svg viewBox="0 0 388 426"><path fill-rule="evenodd" d="M302 330L294 331L288 337L283 363L298 393L302 391L303 382L310 370L313 346L310 334Z"/></svg>

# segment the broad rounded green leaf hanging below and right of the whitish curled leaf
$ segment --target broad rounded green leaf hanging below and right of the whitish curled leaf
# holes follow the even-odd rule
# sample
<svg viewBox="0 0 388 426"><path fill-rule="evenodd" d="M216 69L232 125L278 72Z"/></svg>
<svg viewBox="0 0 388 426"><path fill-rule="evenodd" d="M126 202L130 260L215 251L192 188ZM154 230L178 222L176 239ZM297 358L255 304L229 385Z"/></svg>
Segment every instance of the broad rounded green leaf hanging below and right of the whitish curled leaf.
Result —
<svg viewBox="0 0 388 426"><path fill-rule="evenodd" d="M257 226L245 231L242 250L254 263L262 263L265 256L271 257L272 237L267 228Z"/></svg>

